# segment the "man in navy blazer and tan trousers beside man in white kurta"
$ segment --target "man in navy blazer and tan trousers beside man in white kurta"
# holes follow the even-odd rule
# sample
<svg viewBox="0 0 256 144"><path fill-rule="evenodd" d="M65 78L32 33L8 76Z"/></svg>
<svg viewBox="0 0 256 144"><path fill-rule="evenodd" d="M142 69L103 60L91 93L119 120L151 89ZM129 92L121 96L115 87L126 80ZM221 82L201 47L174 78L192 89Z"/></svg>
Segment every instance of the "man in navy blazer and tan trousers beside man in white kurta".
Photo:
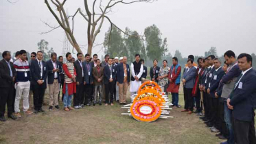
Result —
<svg viewBox="0 0 256 144"><path fill-rule="evenodd" d="M130 67L127 57L124 56L123 62L116 66L117 69L117 86L119 86L119 104L126 104L127 88L130 85Z"/></svg>

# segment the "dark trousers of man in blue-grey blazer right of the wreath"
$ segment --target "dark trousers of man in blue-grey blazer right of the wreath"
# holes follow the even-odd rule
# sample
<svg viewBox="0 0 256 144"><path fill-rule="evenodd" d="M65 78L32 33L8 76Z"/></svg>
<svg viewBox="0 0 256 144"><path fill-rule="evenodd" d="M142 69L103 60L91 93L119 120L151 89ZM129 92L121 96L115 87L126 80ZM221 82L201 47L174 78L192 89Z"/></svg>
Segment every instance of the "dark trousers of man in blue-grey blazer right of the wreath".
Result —
<svg viewBox="0 0 256 144"><path fill-rule="evenodd" d="M192 90L192 88L184 88L184 108L190 111L193 111L194 109L194 97L192 97Z"/></svg>

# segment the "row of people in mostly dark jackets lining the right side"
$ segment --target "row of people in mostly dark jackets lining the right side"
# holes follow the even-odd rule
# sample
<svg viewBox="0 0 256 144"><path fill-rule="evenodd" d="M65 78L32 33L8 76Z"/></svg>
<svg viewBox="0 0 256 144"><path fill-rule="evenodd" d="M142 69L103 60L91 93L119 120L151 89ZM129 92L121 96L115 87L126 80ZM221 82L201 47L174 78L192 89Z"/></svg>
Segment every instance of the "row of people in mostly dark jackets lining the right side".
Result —
<svg viewBox="0 0 256 144"><path fill-rule="evenodd" d="M233 51L220 58L189 56L181 82L185 107L190 115L194 107L211 132L218 132L221 144L253 144L255 137L256 71L253 58L241 53L236 58ZM202 113L202 110L204 113Z"/></svg>

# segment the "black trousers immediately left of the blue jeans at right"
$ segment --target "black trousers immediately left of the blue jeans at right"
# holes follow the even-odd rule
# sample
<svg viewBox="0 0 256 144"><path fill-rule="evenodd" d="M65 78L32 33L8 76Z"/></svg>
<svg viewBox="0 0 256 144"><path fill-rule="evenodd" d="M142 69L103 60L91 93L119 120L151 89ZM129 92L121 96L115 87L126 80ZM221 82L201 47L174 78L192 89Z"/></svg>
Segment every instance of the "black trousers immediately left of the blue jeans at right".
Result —
<svg viewBox="0 0 256 144"><path fill-rule="evenodd" d="M220 133L228 137L229 131L226 128L226 122L225 122L225 116L224 116L224 100L225 99L220 98L220 101L219 101Z"/></svg>

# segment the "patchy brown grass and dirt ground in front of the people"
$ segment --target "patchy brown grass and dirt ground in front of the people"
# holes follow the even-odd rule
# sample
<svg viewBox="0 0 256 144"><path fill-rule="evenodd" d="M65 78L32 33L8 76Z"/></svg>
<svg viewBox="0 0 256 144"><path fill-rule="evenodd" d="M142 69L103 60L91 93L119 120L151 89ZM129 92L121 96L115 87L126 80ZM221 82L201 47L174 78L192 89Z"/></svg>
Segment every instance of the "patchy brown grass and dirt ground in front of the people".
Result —
<svg viewBox="0 0 256 144"><path fill-rule="evenodd" d="M183 95L180 95L183 106ZM62 108L62 105L60 105ZM173 119L153 123L139 122L121 115L126 112L115 106L86 106L65 112L43 107L47 112L23 115L13 121L0 122L0 143L220 143L195 114L187 115L182 108L172 110Z"/></svg>

